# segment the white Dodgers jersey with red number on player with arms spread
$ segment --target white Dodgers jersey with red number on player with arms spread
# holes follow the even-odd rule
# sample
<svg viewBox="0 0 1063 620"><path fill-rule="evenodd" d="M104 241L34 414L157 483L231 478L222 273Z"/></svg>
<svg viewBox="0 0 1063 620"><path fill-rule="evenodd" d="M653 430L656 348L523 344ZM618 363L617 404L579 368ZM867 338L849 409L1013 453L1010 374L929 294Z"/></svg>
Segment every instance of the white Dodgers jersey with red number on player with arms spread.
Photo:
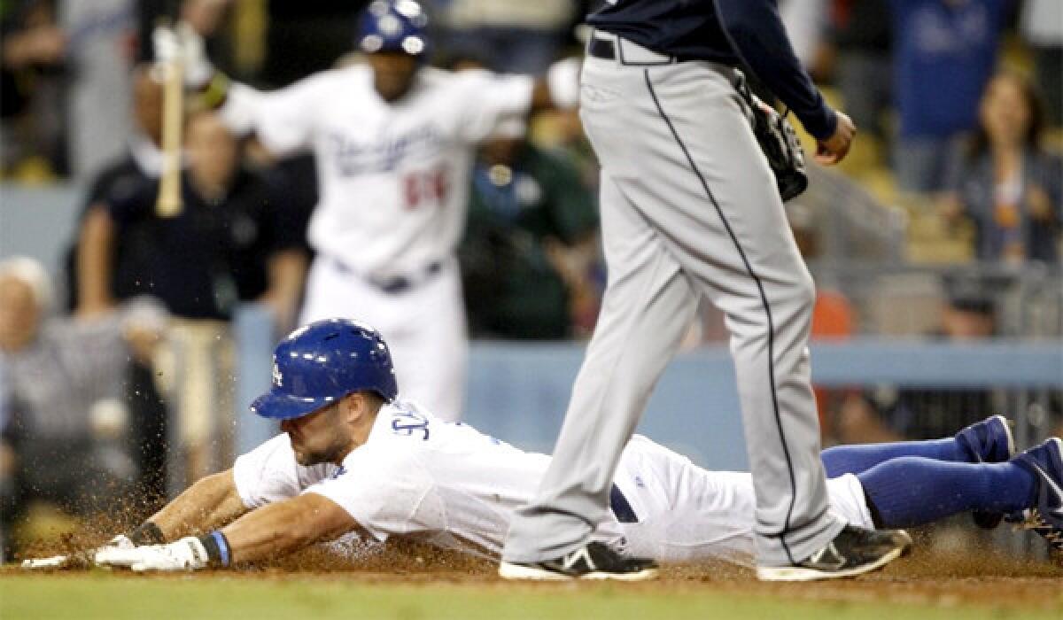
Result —
<svg viewBox="0 0 1063 620"><path fill-rule="evenodd" d="M474 146L526 114L534 80L429 67L387 102L372 69L323 71L264 94L234 84L222 116L276 154L310 150L320 200L308 238L364 277L407 275L449 257L462 231Z"/></svg>

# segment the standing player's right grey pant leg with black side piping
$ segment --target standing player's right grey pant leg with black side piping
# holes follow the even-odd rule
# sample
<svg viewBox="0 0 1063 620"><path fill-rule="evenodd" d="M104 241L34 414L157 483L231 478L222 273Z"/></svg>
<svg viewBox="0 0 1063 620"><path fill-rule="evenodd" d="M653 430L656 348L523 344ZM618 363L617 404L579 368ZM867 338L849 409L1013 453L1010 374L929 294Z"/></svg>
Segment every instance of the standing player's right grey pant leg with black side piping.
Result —
<svg viewBox="0 0 1063 620"><path fill-rule="evenodd" d="M807 352L814 286L732 79L696 64L647 71L668 132L658 149L685 163L659 189L669 208L655 213L684 269L725 314L756 488L758 564L787 567L826 548L844 523L828 510L820 460Z"/></svg>

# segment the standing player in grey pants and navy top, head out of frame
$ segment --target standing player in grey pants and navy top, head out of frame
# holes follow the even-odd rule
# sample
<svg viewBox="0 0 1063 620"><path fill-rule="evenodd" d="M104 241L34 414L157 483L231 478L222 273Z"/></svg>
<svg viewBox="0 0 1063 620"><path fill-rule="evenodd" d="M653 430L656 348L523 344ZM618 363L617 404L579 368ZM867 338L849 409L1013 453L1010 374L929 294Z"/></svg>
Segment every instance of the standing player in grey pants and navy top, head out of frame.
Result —
<svg viewBox="0 0 1063 620"><path fill-rule="evenodd" d="M580 118L602 165L609 281L554 460L513 519L500 574L566 570L702 298L719 307L757 497L757 575L842 577L907 540L827 509L808 336L815 288L737 93L750 69L836 164L856 134L794 56L776 0L607 0L587 21ZM711 418L706 418L711 424ZM623 566L618 564L619 570Z"/></svg>

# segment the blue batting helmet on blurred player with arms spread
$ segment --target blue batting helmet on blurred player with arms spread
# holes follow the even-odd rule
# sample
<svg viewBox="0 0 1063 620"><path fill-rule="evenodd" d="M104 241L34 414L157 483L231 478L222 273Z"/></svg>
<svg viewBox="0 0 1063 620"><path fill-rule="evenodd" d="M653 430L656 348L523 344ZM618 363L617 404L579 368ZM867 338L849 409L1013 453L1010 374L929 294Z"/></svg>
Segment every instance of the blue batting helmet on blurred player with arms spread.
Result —
<svg viewBox="0 0 1063 620"><path fill-rule="evenodd" d="M414 0L374 0L358 24L358 47L366 53L427 51L428 16Z"/></svg>

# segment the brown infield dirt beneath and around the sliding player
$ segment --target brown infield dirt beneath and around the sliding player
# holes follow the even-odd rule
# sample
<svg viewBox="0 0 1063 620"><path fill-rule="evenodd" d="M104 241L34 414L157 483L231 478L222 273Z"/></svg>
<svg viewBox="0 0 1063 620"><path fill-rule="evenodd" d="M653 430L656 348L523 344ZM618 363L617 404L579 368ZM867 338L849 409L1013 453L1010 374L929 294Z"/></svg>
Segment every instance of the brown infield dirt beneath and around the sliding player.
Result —
<svg viewBox="0 0 1063 620"><path fill-rule="evenodd" d="M99 534L82 532L64 540L34 546L31 554L44 556L101 542ZM71 576L79 571L70 571ZM97 571L98 572L98 571ZM0 579L26 575L14 566L5 567ZM117 571L111 573L121 576ZM512 584L495 575L495 565L485 558L412 542L389 542L369 548L357 559L340 558L321 548L294 554L283 560L243 567L239 571L204 571L196 579L210 580L224 574L232 580L266 582L354 583L381 586L454 585L484 592L542 592L564 586ZM145 579L129 574L128 579ZM152 579L152 577L147 577ZM595 584L571 585L595 588ZM660 596L719 592L742 599L769 599L838 604L907 604L930 609L982 608L994 617L1025 617L1026 613L1063 618L1063 562L1020 562L993 554L990 550L941 553L916 546L911 556L884 570L856 580L814 584L769 584L757 582L753 572L730 564L665 565L659 581L624 584L625 592ZM546 588L546 589L542 589Z"/></svg>

